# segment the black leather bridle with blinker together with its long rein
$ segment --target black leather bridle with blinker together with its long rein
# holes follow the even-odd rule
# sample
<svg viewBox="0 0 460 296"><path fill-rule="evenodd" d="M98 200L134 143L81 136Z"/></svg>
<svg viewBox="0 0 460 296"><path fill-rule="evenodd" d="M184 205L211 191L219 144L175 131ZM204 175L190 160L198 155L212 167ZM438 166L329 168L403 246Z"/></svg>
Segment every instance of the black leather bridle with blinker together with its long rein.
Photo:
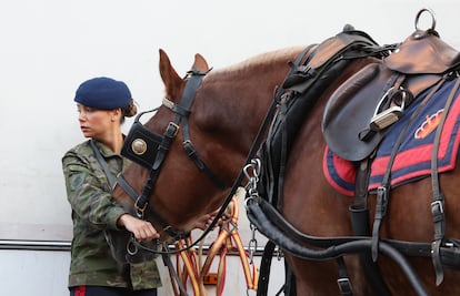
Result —
<svg viewBox="0 0 460 296"><path fill-rule="evenodd" d="M183 90L182 96L179 101L179 104L176 104L168 99L163 100L162 102L163 105L170 109L171 111L173 111L176 113L176 118L173 122L170 122L168 124L168 127L166 129L162 136L156 133L152 133L139 122L140 116L142 116L146 113L154 112L158 109L142 112L136 118L134 123L124 140L121 154L130 159L131 161L140 165L143 165L144 167L150 169L149 178L147 180L141 194L138 194L136 190L132 188L131 185L129 185L129 183L124 180L122 174L119 175L118 184L126 191L126 193L129 196L131 196L131 198L134 200L136 214L138 217L143 220L144 212L148 208L149 196L153 190L153 185L157 181L161 164L166 159L167 152L172 143L172 140L176 137L178 133L179 125L182 124L183 140L184 140L183 146L189 157L212 181L212 183L217 187L221 190L226 190L230 187L230 192L227 195L226 200L223 201L223 204L221 205L213 221L208 225L208 227L203 231L200 237L198 237L189 246L181 248L181 249L176 249L176 251L159 251L159 249L146 247L142 244L138 243L133 237L131 237L131 241L129 244L134 245L133 248L136 252L138 248L141 248L150 253L167 255L167 254L177 254L182 251L194 247L197 243L202 241L207 236L207 234L218 224L219 218L223 215L227 206L232 201L232 197L237 193L238 187L243 182L243 180L247 177L246 172L240 171L233 184L231 186L227 186L226 183L220 181L219 177L214 173L212 173L212 171L199 157L197 151L194 150L190 141L190 133L189 133L189 126L188 126L188 116L190 114L190 108L193 103L196 91L201 84L204 75L208 72L202 73L196 70L191 70L187 73L186 79L188 78L188 82ZM274 114L277 113L278 105L279 105L282 94L283 94L282 88L276 91L274 100L272 101L262 121L262 124L259 127L256 139L252 142L252 146L247 155L244 166L253 164L253 159L259 151L259 147L267 133L267 130L270 127L270 123ZM152 218L154 218L156 222L161 225L162 229L173 239L179 241L183 237L189 236L188 232L177 229L176 227L168 224L167 221L162 218L159 213L154 212L152 207L149 207L149 213L152 215ZM127 246L127 248L129 248L129 246ZM136 253L136 252L132 252L132 253Z"/></svg>

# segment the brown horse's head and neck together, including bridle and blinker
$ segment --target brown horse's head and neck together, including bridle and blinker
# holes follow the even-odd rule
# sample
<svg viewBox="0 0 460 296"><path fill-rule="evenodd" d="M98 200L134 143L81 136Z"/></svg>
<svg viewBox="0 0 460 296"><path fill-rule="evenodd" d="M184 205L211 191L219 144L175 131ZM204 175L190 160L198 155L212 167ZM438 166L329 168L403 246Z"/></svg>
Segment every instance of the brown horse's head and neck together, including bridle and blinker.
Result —
<svg viewBox="0 0 460 296"><path fill-rule="evenodd" d="M112 192L114 200L150 221L163 242L189 233L198 217L219 208L229 194L273 90L301 48L261 54L218 71L211 71L196 54L182 79L160 50L164 99L144 124L140 124L143 113L138 115L123 146L130 155L141 154L136 145L143 142L140 147L146 145L143 152L150 161L139 164L136 157L144 155L134 155ZM259 80L267 82L263 92ZM246 92L248 88L254 92ZM138 139L146 134L153 144ZM113 248L124 248L123 239L109 241Z"/></svg>

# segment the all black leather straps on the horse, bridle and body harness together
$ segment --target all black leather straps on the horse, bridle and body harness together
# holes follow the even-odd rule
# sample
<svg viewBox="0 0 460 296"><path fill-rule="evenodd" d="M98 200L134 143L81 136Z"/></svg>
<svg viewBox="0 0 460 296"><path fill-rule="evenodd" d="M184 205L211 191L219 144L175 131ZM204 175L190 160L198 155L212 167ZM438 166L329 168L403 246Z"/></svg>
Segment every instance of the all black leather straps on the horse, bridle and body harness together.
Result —
<svg viewBox="0 0 460 296"><path fill-rule="evenodd" d="M436 37L437 33L432 28L432 30L428 30L427 33L421 33L417 31L416 34L413 34L413 38L423 40L423 37L427 37L427 35ZM333 44L334 47L331 47L331 44ZM403 44L409 44L409 43L403 42ZM432 43L431 45L438 47L439 44ZM333 48L333 50L329 52L323 50L323 49L331 49L331 48ZM262 185L260 185L258 188L251 188L252 191L260 190L263 196L269 196L269 197L264 200L262 197L251 196L251 198L247 201L248 217L251 221L251 223L254 224L256 227L262 234L264 234L267 237L271 239L271 242L281 246L286 251L298 255L299 257L302 257L306 259L312 259L312 261L337 259L339 264L339 279L346 279L346 280L339 282L339 286L341 288L342 295L352 294L351 286L349 282L347 280L348 276L346 274L346 267L341 259L342 256L347 254L361 254L362 255L368 252L371 252L372 258L377 259L377 253L378 252L383 253L384 255L389 256L390 258L392 258L394 262L399 264L399 266L406 273L409 282L412 284L418 295L426 295L426 292L422 285L420 284L419 278L417 277L414 272L411 269L404 255L406 256L430 256L433 261L433 265L434 265L436 273L437 273L437 284L442 282L442 265L448 265L453 268L460 268L460 251L459 251L460 242L453 238L449 238L449 239L444 238L444 227L446 227L444 225L446 222L444 222L444 216L443 216L443 207L444 207L443 198L444 197L442 193L440 193L440 190L439 190L438 172L436 170L437 164L436 164L436 157L434 157L437 152L434 151L433 151L433 163L432 163L432 180L433 180L432 214L433 214L433 223L434 223L434 239L431 244L430 243L392 241L392 239L380 239L379 229L380 229L381 221L386 216L387 205L389 201L389 188L386 186L384 184L386 182L383 182L381 190L379 190L378 192L378 204L377 204L378 208L376 211L372 236L369 236L370 229L368 226L366 226L368 225L368 220L367 220L368 193L367 193L366 185L367 185L367 176L369 174L369 167L370 167L369 164L372 160L372 153L369 153L369 155L366 155L366 157L362 157L362 161L360 162L360 170L358 171L358 175L357 175L357 180L359 181L359 184L357 184L356 200L354 200L353 205L350 207L350 212L352 213L351 216L352 216L353 229L356 234L359 236L351 236L351 237L309 236L293 228L279 214L279 210L280 210L279 207L282 204L282 176L283 176L282 167L288 157L289 149L292 144L292 141L297 134L297 130L287 130L286 127L291 126L291 125L296 125L296 126L300 125L300 124L291 124L292 122L301 123L301 120L299 119L299 116L296 116L292 114L302 113L303 112L302 110L306 110L308 109L309 105L314 104L314 100L312 98L319 98L320 96L319 94L324 89L324 86L331 81L332 78L337 76L337 73L343 70L344 67L347 67L347 64L350 61L354 59L360 59L363 57L377 57L380 59L386 58L389 55L390 51L394 50L396 48L398 48L398 45L378 47L378 44L366 33L350 30L349 28L349 30L346 30L344 32L339 34L337 38L330 39L327 42L319 44L318 47L312 47L306 50L302 53L303 55L298 59L299 62L297 62L297 64L292 64L290 74L286 79L281 91L277 92L276 100L273 101L273 105L272 108L270 108L270 111L266 116L266 120L261 126L261 130L259 131L257 141L254 141L254 144L251 149L251 152L249 153L248 161L247 161L247 163L251 163L251 159L254 155L254 150L256 147L259 146L258 141L260 141L261 134L263 134L263 131L269 125L271 116L274 114L276 106L280 105L280 109L278 111L278 115L276 119L277 120L282 119L282 120L272 123L271 131L270 131L271 137L267 142L270 144L266 143L263 146L264 150L261 151L262 155L263 154L270 155L269 163L272 164L270 167L271 172L269 172L268 174L263 176L264 177L263 181L269 186L263 187ZM412 48L408 45L408 49L409 49L408 51L402 51L402 53L412 52L412 50L417 49L417 47ZM442 59L433 60L433 62L437 62L437 64L439 64L438 62L441 62L443 65L440 69L434 70L437 73L446 69L456 70L460 62L459 54L456 51L452 51L450 48L444 48L444 49L446 50L441 52L446 53L446 55L443 55ZM390 55L390 58L392 57L392 54ZM302 61L303 63L300 64L300 61ZM398 67L398 63L397 64L392 63L391 59L388 59L387 61L389 61L387 67L389 67L390 69ZM420 69L418 69L417 67L416 68L413 67L414 64L418 64L418 62L403 64L403 65L399 64L401 65L399 69L404 70L406 72L408 72L408 74L413 74L411 73L411 71L420 71ZM456 71L453 72L457 73ZM430 71L429 73L432 73L432 71ZM144 218L144 212L148 208L148 198L153 190L161 164L168 153L171 142L173 141L173 139L176 137L178 133L178 129L180 124L183 125L183 137L184 137L183 144L184 144L184 150L187 151L190 159L197 164L198 167L200 167L200 170L202 170L210 177L210 180L213 181L213 183L218 187L226 187L224 183L220 182L219 178L216 176L216 174L213 174L209 169L207 169L207 165L204 164L204 162L202 162L202 160L200 160L197 151L193 149L191 141L190 141L187 119L190 113L190 106L194 98L193 94L196 90L198 89L198 86L200 85L201 80L206 73L199 73L197 71L192 71L189 74L190 74L189 81L187 82L186 90L182 94L180 103L174 104L170 102L169 100L163 101L163 105L172 110L176 113L176 118L174 118L174 121L168 125L162 136L156 135L156 134L151 136L152 141L157 143L157 145L154 146L156 153L153 154L154 155L153 162L152 163L146 162L144 164L146 166L148 165L150 166L150 174L149 174L149 178L146 183L146 186L142 193L137 194L136 191L133 191L133 188L128 185L128 183L124 181L122 176L118 181L119 184L127 191L127 193L129 193L133 197L136 208L137 208L136 214L141 218ZM442 80L450 79L450 78L452 76L447 74L442 78ZM401 80L394 79L393 81L401 82L402 79ZM439 82L439 83L442 83L442 82ZM459 84L460 82L456 84L456 88L459 88ZM453 100L454 91L456 90L452 90L451 92L451 96L449 98L447 102L446 110L448 110L449 104ZM304 100L297 100L299 94L303 94L303 95L307 94L307 98ZM342 99L347 98L347 95L346 96L338 95L338 96ZM302 103L298 103L299 101L302 101ZM139 118L142 114L143 113L139 114L139 116L136 120L136 123L139 123ZM447 112L446 114L443 114L443 116L447 116ZM284 125L286 122L288 122L288 124ZM142 131L140 125L141 125L140 123L133 124L132 129L137 129L139 133L143 132L143 134L147 134L146 131ZM442 129L442 123L438 127L437 133L440 134L441 129ZM376 134L379 134L379 132L381 131L373 131L373 132L376 133L371 135L371 137L374 136ZM159 141L160 139L161 141ZM134 140L126 141L126 145L129 145L131 149L128 147L124 151L131 150L133 153L126 152L126 156L132 157L133 161L137 161L137 159L139 159L138 157L139 154L136 151L137 145L134 144ZM439 142L439 136L437 136L437 141ZM437 144L434 146L437 146ZM281 157L278 155L279 152L282 152L280 153ZM133 156L133 154L136 154L137 156ZM393 154L396 154L396 152ZM273 165L273 164L278 164L278 165ZM391 164L389 165L389 170L390 169L391 169ZM230 193L229 196L232 196L234 194L236 187L241 183L242 177L243 177L242 174L238 176L232 187L232 192ZM389 174L388 174L388 177L386 177L386 180L387 178L389 178ZM230 198L227 198L226 200L227 204L224 203L218 216L220 216L223 213L224 207L227 207L229 202L230 202ZM272 203L274 203L274 206L272 205ZM168 235L170 235L171 237L178 239L187 235L187 233L183 233L180 229L174 229L173 227L171 227L163 218L161 218L161 216L158 213L154 213L154 211L151 210L151 207L149 207L148 211L153 216L153 218L163 226L163 231L167 232ZM366 221L364 225L361 223L362 221ZM211 223L210 228L213 227L216 223L217 221ZM204 233L204 235L206 234L207 233ZM200 237L198 241L200 241L202 237ZM299 242L314 245L317 247L320 247L321 249L306 248L304 245L300 244ZM271 243L268 246L269 246L268 249L272 249ZM140 247L149 252L153 252L153 253L171 254L169 252L158 252L158 251L152 251L150 248L144 248L142 246ZM173 253L177 253L177 252L173 252ZM267 262L267 261L263 261L263 262ZM369 268L368 271L371 271L372 268L373 267ZM371 274L374 276L377 275L376 276L377 279L371 282L373 283L373 287L379 293L379 295L389 295L388 288L386 288L384 286L384 282L381 278L379 278L378 271L377 269L373 269L373 271L374 272L371 272ZM289 274L289 271L288 271L288 274ZM263 268L261 268L261 276L262 277L268 276L267 274L263 273ZM292 283L292 278L287 278L287 283L288 282ZM268 283L268 280L260 280L260 283L264 285ZM261 286L260 290L262 292L267 289L263 286ZM289 287L288 285L284 288L284 290L291 290L292 293L294 293L294 287Z"/></svg>

